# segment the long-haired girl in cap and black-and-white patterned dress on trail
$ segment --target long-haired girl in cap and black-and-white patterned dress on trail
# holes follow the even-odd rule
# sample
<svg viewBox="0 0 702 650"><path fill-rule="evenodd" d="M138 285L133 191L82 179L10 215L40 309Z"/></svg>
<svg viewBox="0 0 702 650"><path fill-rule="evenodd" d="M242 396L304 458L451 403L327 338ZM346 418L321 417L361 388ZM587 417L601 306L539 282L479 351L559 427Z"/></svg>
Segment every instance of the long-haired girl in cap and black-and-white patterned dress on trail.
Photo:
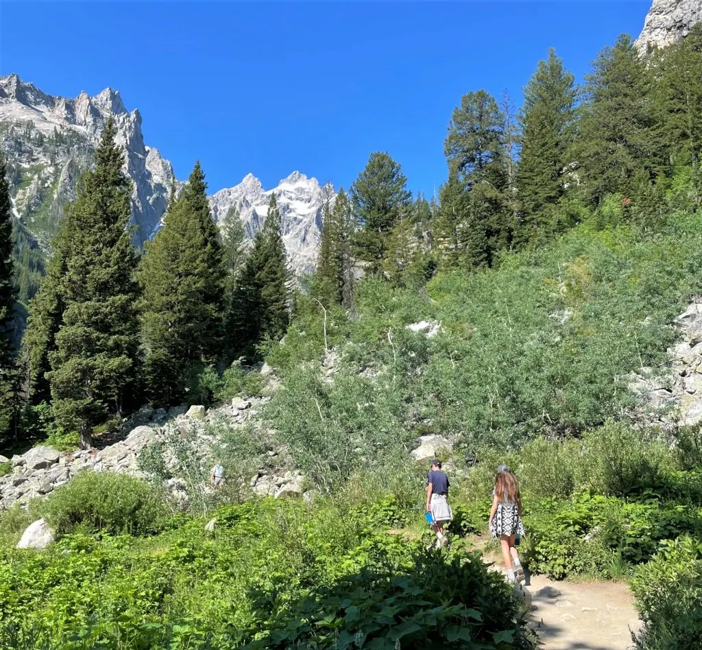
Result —
<svg viewBox="0 0 702 650"><path fill-rule="evenodd" d="M524 535L522 498L519 496L517 477L507 465L497 468L490 511L490 533L501 542L508 580L512 584L521 583L524 580L524 568L519 561L515 542L518 536Z"/></svg>

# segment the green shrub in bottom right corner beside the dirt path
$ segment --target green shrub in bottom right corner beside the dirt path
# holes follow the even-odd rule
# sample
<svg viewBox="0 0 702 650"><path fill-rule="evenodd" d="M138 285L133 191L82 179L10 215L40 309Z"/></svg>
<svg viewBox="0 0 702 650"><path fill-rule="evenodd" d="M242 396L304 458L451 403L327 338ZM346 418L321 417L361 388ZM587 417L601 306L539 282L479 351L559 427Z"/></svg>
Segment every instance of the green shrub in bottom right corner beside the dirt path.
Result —
<svg viewBox="0 0 702 650"><path fill-rule="evenodd" d="M644 626L640 650L693 650L702 638L702 543L683 537L661 545L632 581Z"/></svg>

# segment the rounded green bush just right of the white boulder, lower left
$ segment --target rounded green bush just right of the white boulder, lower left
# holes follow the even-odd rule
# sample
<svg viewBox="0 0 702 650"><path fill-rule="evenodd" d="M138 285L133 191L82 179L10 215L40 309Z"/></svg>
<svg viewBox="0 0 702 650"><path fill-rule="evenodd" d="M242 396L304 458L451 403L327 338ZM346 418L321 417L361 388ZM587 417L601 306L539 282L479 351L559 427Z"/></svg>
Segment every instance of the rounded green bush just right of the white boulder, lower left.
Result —
<svg viewBox="0 0 702 650"><path fill-rule="evenodd" d="M159 529L166 507L161 492L146 481L126 474L85 471L55 490L39 512L59 535L79 526L146 535Z"/></svg>

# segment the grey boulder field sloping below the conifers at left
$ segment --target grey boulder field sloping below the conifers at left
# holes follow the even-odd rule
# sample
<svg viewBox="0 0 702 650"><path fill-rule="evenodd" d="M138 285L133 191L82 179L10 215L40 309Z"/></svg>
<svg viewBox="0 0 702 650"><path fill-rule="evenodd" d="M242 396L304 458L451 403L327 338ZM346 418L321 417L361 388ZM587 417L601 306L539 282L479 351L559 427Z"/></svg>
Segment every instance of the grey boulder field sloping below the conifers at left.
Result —
<svg viewBox="0 0 702 650"><path fill-rule="evenodd" d="M256 419L267 400L267 397L235 397L230 403L216 408L196 405L186 410L181 406L168 412L145 406L131 420L132 426L138 426L105 448L59 453L51 447L40 446L15 455L11 459L12 473L0 477L0 510L15 504L25 505L34 498L48 495L84 470L150 478L156 470L140 462L145 453L151 457L155 453L161 458L157 466L163 469L164 475L159 478L165 481L171 497L186 506L190 491L206 493L212 490L208 474L216 460L215 450L226 445L218 439L218 432L246 427ZM291 498L303 495L303 476L293 469L287 449L277 446L274 436L269 437L271 448L261 457L250 460L258 471L245 487L258 496ZM180 472L183 454L189 463L185 470L188 480Z"/></svg>

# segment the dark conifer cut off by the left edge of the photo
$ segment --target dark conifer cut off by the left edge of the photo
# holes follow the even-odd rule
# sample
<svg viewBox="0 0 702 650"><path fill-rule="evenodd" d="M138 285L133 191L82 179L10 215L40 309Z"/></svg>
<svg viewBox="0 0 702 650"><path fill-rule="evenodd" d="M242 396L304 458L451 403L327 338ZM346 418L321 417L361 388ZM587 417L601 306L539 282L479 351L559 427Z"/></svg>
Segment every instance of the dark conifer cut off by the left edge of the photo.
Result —
<svg viewBox="0 0 702 650"><path fill-rule="evenodd" d="M15 286L13 265L13 226L10 186L5 157L0 152L0 415L4 429L16 425L15 401Z"/></svg>

